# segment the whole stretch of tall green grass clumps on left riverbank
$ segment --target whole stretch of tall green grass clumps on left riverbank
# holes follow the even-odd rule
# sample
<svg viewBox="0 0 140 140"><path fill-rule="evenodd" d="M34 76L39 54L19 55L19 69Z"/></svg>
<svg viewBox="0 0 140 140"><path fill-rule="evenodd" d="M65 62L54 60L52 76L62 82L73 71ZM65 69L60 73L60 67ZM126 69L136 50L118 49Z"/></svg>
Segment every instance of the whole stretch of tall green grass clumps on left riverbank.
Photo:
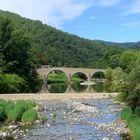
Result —
<svg viewBox="0 0 140 140"><path fill-rule="evenodd" d="M34 101L5 101L0 100L0 122L25 122L23 118L29 118L28 122L33 123L37 119L37 112L34 111L36 103ZM26 113L26 112L30 113ZM27 115L27 116L26 116ZM24 116L24 117L23 117Z"/></svg>

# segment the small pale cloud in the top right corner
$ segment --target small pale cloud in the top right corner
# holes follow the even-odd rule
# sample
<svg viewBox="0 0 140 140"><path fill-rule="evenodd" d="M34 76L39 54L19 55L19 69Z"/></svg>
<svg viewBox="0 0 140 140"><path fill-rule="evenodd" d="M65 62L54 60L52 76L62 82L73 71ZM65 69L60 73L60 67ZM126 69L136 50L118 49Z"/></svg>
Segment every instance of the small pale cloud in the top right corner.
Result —
<svg viewBox="0 0 140 140"><path fill-rule="evenodd" d="M140 0L134 0L128 7L127 11L125 12L126 15L139 13L140 13Z"/></svg>

